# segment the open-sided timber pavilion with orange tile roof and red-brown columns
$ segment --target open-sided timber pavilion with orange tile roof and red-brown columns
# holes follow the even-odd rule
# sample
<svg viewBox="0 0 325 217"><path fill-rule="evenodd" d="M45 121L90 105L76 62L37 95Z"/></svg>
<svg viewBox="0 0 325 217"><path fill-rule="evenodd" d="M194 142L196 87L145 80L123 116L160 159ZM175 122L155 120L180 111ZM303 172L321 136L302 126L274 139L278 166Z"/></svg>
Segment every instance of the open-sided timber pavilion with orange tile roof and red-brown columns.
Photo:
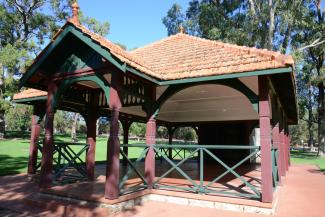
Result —
<svg viewBox="0 0 325 217"><path fill-rule="evenodd" d="M133 147L127 144L128 130L132 122L139 121L146 123L146 144L137 146L145 150L144 174L138 175L146 189L158 186L157 155L189 178L180 169L180 162L170 160L174 148L189 148L191 154L195 152L200 171L208 162L214 162L239 178L234 171L236 167L228 166L227 162L243 163L258 149L261 190L252 186L251 189L262 202L272 202L273 192L290 164L288 125L297 123L293 70L291 56L206 40L183 31L125 51L82 26L78 20L78 5L74 4L73 17L21 78L21 86L29 89L14 96L15 102L34 108L28 173L36 172L40 121L45 116L39 184L42 188L51 187L55 146L53 119L60 109L78 112L86 121L89 180L95 178L96 121L100 116L110 118L107 199L121 195L120 152L125 162L134 166L127 159L128 147ZM123 145L118 137L119 121L123 125ZM194 127L198 145L156 144L157 125L167 127L170 144L177 127ZM260 129L260 146L250 145L249 137L254 128ZM209 192L209 186L203 182L206 181L203 172L198 182L190 181L192 192Z"/></svg>

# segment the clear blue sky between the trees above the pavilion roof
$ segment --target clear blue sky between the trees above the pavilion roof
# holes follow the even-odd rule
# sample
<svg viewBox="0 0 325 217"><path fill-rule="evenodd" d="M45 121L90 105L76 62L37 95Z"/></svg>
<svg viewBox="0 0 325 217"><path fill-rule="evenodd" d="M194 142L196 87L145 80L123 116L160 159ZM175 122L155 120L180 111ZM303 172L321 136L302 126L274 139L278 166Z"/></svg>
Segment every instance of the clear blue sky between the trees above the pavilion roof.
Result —
<svg viewBox="0 0 325 217"><path fill-rule="evenodd" d="M110 23L107 38L128 49L167 36L162 18L174 3L186 10L190 0L78 0L86 16Z"/></svg>

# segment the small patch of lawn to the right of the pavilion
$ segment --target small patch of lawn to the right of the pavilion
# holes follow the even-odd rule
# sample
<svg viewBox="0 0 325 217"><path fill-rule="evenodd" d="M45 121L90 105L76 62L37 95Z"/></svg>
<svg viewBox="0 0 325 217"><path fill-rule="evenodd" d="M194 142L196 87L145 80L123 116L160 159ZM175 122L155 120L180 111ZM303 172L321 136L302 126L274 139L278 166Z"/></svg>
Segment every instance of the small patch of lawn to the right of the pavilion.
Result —
<svg viewBox="0 0 325 217"><path fill-rule="evenodd" d="M291 151L291 162L296 164L315 164L325 172L325 157L317 157L316 153L302 150Z"/></svg>

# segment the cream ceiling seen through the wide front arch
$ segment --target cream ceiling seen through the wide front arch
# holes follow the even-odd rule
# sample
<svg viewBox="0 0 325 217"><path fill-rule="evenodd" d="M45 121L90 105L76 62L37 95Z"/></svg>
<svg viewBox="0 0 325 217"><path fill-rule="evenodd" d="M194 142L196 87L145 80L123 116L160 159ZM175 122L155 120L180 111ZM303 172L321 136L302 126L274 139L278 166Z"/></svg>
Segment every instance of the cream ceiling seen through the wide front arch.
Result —
<svg viewBox="0 0 325 217"><path fill-rule="evenodd" d="M170 97L157 119L169 122L258 120L250 101L223 85L198 85Z"/></svg>

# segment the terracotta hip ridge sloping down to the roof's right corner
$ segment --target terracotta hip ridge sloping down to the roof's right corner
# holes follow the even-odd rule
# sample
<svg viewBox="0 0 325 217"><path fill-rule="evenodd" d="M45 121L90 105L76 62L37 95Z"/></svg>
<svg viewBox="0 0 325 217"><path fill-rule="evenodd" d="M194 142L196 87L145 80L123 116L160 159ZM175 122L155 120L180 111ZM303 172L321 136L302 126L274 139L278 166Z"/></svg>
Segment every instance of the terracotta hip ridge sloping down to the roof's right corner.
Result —
<svg viewBox="0 0 325 217"><path fill-rule="evenodd" d="M268 50L265 48L261 49L261 48L256 48L256 47L248 47L248 46L241 46L241 45L237 45L237 44L230 44L230 43L226 43L226 42L222 42L222 41L210 40L210 39L192 36L192 35L188 35L188 34L183 34L183 35L185 37L192 39L192 40L198 40L198 41L202 41L202 42L213 43L213 44L216 44L221 47L228 47L228 48L232 48L232 49L240 49L243 51L247 51L248 54L258 54L258 55L262 55L262 56L268 56L272 60L275 60L282 64L287 64L287 65L294 64L294 60L291 55L281 54L280 52L277 52L277 51L271 51L271 50Z"/></svg>

